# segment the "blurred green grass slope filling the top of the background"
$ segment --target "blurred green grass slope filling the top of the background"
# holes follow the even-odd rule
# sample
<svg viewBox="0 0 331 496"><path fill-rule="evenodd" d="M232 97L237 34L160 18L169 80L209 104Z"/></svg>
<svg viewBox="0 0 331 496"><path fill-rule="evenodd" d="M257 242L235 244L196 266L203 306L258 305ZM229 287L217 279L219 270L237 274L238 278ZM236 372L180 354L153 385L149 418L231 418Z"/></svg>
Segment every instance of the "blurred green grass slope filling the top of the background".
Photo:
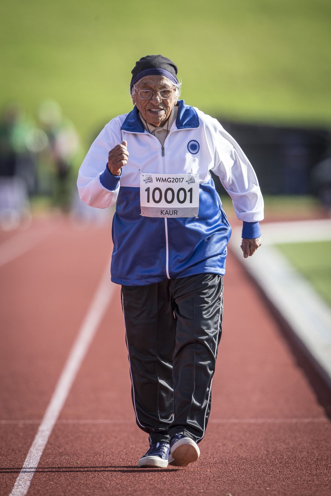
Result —
<svg viewBox="0 0 331 496"><path fill-rule="evenodd" d="M162 53L182 97L240 121L331 125L330 0L2 0L0 107L57 100L85 145L132 109L131 69Z"/></svg>

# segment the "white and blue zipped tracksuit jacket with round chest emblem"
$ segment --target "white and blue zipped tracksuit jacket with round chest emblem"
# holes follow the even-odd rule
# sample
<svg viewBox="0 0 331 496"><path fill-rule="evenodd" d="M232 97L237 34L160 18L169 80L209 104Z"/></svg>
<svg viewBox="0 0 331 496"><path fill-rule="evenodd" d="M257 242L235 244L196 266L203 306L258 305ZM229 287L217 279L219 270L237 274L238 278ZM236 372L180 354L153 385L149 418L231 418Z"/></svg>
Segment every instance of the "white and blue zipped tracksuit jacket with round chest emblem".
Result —
<svg viewBox="0 0 331 496"><path fill-rule="evenodd" d="M260 236L264 203L249 160L216 119L185 105L184 100L177 105L177 119L163 147L145 131L134 107L104 127L80 167L80 198L98 208L116 203L111 263L115 283L136 286L200 273L225 273L231 228L210 171L231 196L236 215L244 222L243 237ZM121 176L116 177L106 166L108 152L123 140L128 142L130 156ZM188 146L192 140L198 147ZM198 173L199 218L141 216L139 170Z"/></svg>

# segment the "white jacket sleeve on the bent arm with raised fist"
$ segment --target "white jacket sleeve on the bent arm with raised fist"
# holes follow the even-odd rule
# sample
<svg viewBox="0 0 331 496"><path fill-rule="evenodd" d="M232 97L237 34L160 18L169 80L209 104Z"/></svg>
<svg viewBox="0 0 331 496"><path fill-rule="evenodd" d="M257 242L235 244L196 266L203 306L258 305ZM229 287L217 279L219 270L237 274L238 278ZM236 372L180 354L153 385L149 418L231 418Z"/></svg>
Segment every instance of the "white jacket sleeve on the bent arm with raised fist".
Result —
<svg viewBox="0 0 331 496"><path fill-rule="evenodd" d="M107 124L92 143L80 166L77 180L79 197L92 207L106 208L114 205L120 189L121 176L113 176L107 167L108 152L122 143L121 130L115 120ZM115 124L112 126L112 124Z"/></svg>

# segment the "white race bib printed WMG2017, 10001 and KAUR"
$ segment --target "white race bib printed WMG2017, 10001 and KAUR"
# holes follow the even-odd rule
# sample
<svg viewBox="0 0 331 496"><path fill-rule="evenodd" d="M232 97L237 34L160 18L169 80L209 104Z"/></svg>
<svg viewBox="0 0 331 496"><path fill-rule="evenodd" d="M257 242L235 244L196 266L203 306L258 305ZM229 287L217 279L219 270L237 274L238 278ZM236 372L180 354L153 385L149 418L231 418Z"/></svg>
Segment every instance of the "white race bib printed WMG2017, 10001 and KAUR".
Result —
<svg viewBox="0 0 331 496"><path fill-rule="evenodd" d="M199 174L140 173L144 217L198 217Z"/></svg>

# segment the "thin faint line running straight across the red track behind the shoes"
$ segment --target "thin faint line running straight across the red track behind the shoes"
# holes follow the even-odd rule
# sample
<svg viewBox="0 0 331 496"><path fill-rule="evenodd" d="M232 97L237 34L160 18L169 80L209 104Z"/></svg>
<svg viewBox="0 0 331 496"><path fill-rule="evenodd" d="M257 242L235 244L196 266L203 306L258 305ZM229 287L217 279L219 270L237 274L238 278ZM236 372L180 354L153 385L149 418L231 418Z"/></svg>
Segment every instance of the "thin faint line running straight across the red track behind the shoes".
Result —
<svg viewBox="0 0 331 496"><path fill-rule="evenodd" d="M293 424L309 424L309 423L330 423L326 417L317 417L312 419L298 418L298 419L211 419L209 424L279 424L279 423L293 423ZM40 420L0 420L0 425L7 424L39 424ZM57 424L135 424L132 419L63 419L58 420Z"/></svg>

